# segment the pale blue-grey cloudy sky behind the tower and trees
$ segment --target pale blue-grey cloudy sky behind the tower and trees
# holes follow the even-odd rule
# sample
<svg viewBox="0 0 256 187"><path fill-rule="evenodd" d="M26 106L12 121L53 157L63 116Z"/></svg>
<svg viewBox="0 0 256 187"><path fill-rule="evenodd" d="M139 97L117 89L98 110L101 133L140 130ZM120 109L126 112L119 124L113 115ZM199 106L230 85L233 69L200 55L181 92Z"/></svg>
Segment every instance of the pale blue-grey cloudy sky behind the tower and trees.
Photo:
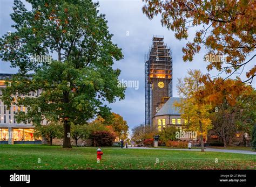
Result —
<svg viewBox="0 0 256 187"><path fill-rule="evenodd" d="M28 3L25 3L28 5ZM188 69L200 69L207 73L206 62L203 61L204 51L197 54L192 62L183 62L181 51L186 40L177 40L174 33L162 27L160 17L149 20L142 12L144 3L140 0L102 0L99 1L100 13L106 15L109 21L109 31L114 34L113 42L116 43L124 54L124 59L116 62L114 68L119 68L122 73L119 80L139 81L139 89L127 88L125 99L110 104L113 112L119 113L130 126L130 130L139 124L144 123L144 57L152 45L153 35L163 35L164 42L172 49L173 58L173 97L178 97L176 84L177 78L185 77ZM13 1L0 1L0 35L11 28ZM28 5L29 9L29 5ZM188 34L193 39L194 33L199 28L192 28ZM244 69L246 72L255 62ZM16 73L17 69L10 68L8 62L0 61L0 73ZM217 71L210 72L217 75ZM225 74L223 75L225 76ZM245 79L244 76L241 76ZM255 80L253 82L255 87Z"/></svg>

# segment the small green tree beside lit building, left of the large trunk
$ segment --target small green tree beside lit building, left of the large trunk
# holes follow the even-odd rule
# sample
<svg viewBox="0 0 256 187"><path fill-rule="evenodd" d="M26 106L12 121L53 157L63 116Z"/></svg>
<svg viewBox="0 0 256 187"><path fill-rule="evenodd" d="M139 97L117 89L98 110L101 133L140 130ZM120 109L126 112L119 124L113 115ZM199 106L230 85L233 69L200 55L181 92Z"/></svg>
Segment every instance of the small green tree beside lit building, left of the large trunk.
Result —
<svg viewBox="0 0 256 187"><path fill-rule="evenodd" d="M59 123L50 123L35 127L35 137L45 138L52 145L52 140L55 138L63 138L63 127Z"/></svg>

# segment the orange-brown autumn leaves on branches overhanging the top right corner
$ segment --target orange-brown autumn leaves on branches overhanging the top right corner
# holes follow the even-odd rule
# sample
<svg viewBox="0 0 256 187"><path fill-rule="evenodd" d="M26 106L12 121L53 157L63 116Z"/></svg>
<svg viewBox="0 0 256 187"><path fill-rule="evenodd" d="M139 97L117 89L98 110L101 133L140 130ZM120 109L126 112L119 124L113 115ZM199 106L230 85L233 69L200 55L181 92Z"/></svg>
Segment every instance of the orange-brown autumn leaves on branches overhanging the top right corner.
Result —
<svg viewBox="0 0 256 187"><path fill-rule="evenodd" d="M143 2L145 15L150 19L160 15L161 24L174 31L179 40L188 38L191 27L198 28L193 41L187 42L183 48L184 61L192 61L196 53L206 48L205 58L210 55L225 56L224 61L208 61L208 70L215 68L230 74L248 64L251 69L245 74L248 78L246 81L252 81L256 72L256 66L252 63L255 57L255 1Z"/></svg>

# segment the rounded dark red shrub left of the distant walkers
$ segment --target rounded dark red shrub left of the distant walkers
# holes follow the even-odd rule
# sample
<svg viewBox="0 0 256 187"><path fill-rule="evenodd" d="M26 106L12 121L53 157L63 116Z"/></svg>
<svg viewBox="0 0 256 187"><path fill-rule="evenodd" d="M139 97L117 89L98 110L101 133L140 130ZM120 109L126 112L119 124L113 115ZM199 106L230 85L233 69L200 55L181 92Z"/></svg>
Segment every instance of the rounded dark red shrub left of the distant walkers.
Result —
<svg viewBox="0 0 256 187"><path fill-rule="evenodd" d="M96 142L96 146L112 146L116 137L108 131L95 131L91 133L90 138Z"/></svg>

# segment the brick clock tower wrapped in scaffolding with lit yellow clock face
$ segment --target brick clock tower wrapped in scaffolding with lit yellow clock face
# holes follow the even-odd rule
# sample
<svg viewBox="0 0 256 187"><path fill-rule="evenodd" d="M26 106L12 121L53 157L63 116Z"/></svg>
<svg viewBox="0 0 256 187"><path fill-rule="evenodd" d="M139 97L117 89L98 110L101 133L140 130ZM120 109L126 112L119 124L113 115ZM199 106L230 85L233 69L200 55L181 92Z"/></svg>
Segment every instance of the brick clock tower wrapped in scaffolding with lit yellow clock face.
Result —
<svg viewBox="0 0 256 187"><path fill-rule="evenodd" d="M164 37L153 36L149 54L145 56L145 124L160 107L172 97L171 49L164 44Z"/></svg>

